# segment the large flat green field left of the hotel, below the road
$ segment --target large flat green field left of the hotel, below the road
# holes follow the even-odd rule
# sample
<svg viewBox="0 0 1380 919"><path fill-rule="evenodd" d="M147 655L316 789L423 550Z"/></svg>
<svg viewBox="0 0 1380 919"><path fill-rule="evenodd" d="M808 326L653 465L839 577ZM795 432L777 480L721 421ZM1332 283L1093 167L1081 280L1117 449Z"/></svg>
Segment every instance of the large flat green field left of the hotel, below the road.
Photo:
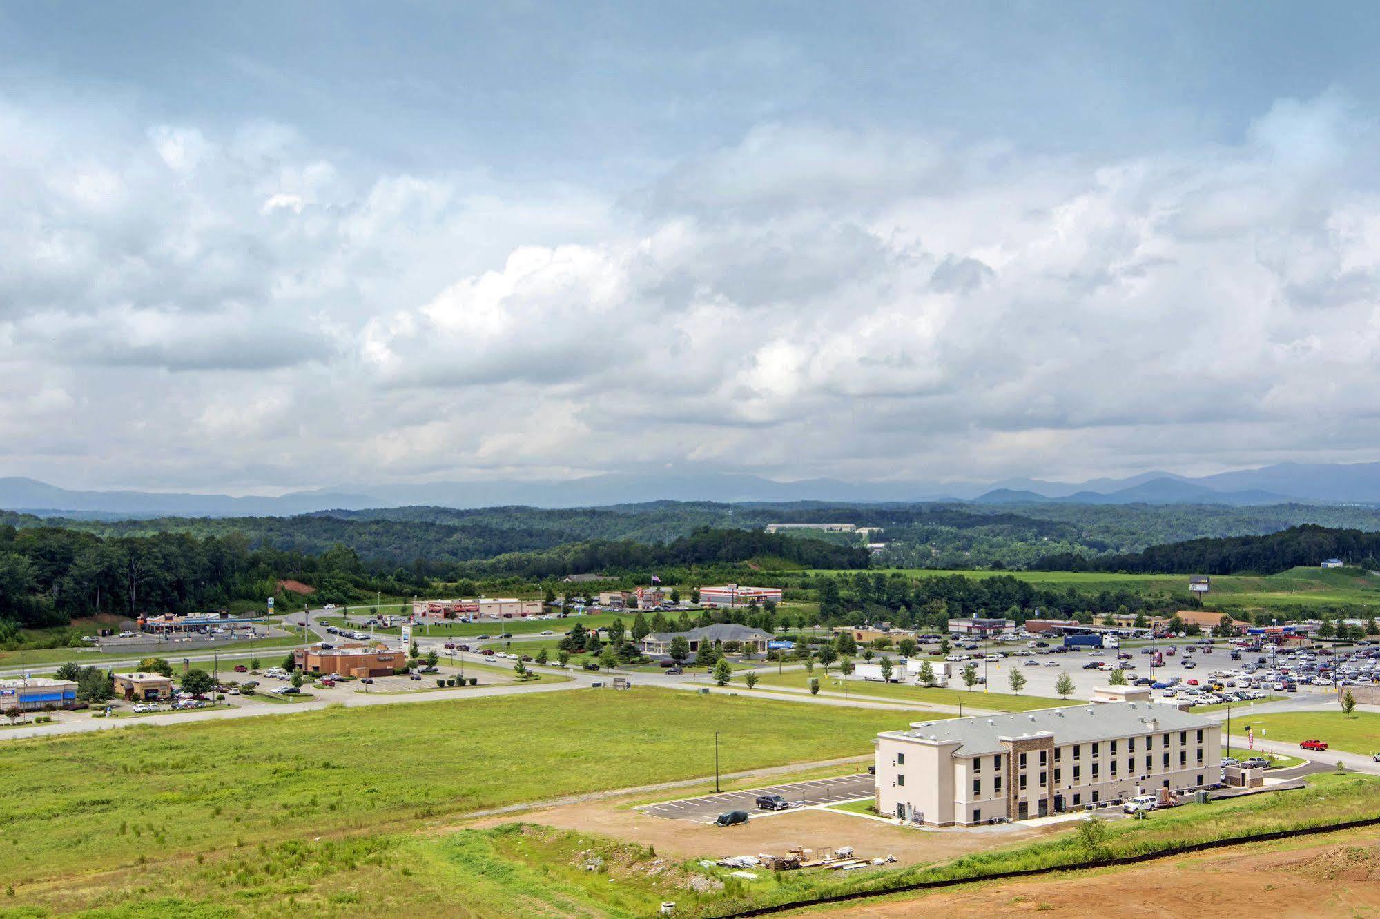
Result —
<svg viewBox="0 0 1380 919"><path fill-rule="evenodd" d="M21 891L12 905L79 875L94 897L92 872L144 860L181 871L182 858L240 856L259 842L407 831L711 774L715 731L720 769L740 771L867 753L897 726L887 712L638 689L7 741L0 825L14 842L0 844L0 876Z"/></svg>

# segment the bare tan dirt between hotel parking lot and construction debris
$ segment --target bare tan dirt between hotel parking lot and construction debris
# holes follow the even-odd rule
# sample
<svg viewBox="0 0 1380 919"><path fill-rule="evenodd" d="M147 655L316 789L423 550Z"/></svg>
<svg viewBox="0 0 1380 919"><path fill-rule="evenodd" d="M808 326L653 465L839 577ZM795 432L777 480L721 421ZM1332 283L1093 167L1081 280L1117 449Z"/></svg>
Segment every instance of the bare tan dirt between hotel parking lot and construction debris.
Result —
<svg viewBox="0 0 1380 919"><path fill-rule="evenodd" d="M901 829L832 810L796 810L771 814L737 827L712 827L689 820L650 817L624 807L628 800L599 800L564 804L523 814L524 822L566 829L582 829L654 846L676 858L720 858L784 853L796 846L824 850L853 846L858 856L894 856L909 865L941 861L973 851L1032 842L1067 828L1027 829L1012 825L984 831ZM494 817L476 827L493 827L512 818Z"/></svg>

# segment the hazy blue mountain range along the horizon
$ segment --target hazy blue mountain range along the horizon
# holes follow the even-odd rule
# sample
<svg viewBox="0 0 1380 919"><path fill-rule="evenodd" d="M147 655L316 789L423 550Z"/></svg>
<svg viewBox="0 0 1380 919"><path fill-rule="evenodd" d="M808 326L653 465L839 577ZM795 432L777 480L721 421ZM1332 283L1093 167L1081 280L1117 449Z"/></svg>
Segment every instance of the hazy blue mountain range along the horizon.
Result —
<svg viewBox="0 0 1380 919"><path fill-rule="evenodd" d="M360 511L435 505L484 508L607 506L649 501L836 504L972 501L976 504L1380 504L1380 462L1279 464L1261 469L1187 477L1143 472L1125 479L996 483L773 482L744 473L610 473L564 482L435 482L426 484L349 484L280 497L152 491L72 491L33 479L0 479L0 509L43 516L290 516L313 511Z"/></svg>

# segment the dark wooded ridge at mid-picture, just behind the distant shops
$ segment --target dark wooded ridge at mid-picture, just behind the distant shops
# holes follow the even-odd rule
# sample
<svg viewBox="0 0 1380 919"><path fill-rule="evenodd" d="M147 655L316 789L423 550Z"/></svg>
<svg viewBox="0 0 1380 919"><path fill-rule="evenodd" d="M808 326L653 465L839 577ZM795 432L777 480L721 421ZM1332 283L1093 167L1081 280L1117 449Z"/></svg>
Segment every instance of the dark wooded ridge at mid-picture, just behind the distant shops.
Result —
<svg viewBox="0 0 1380 919"><path fill-rule="evenodd" d="M545 552L518 552L458 566L464 577L522 577L541 581L567 574L656 571L658 567L715 566L767 557L802 569L865 569L867 549L820 540L796 540L762 530L697 530L665 544L588 540Z"/></svg>

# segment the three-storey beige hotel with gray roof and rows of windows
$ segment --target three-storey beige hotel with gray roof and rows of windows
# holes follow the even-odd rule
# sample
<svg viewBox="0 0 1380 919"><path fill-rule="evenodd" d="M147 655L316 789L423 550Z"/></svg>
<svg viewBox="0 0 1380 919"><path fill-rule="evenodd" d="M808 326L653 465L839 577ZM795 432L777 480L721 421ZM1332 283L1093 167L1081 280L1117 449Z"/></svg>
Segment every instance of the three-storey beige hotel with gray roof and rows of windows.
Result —
<svg viewBox="0 0 1380 919"><path fill-rule="evenodd" d="M876 809L927 827L1210 785L1221 726L1150 702L916 722L876 741Z"/></svg>

